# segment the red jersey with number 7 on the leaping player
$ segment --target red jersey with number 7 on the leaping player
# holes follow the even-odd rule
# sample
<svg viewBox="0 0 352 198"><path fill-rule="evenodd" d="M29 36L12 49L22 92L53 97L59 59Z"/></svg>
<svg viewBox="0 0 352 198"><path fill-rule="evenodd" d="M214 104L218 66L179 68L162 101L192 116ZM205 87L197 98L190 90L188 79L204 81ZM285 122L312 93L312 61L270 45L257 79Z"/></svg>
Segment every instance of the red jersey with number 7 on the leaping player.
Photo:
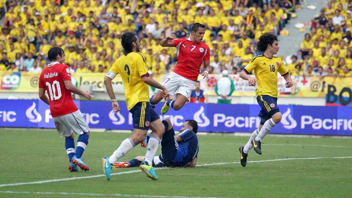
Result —
<svg viewBox="0 0 352 198"><path fill-rule="evenodd" d="M203 42L194 43L189 38L175 39L177 65L174 72L184 78L196 81L203 61L210 61L209 46Z"/></svg>

